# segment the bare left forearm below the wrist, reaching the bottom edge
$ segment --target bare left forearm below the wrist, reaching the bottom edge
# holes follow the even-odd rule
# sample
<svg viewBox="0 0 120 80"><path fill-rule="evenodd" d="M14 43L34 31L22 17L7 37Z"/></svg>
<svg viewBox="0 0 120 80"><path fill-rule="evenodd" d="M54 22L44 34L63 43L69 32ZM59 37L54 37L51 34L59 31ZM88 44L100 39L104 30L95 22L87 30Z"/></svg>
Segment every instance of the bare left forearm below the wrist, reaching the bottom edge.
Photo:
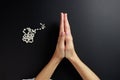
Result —
<svg viewBox="0 0 120 80"><path fill-rule="evenodd" d="M60 63L61 59L53 56L50 62L43 68L43 70L37 75L35 80L49 80L55 71L56 67Z"/></svg>

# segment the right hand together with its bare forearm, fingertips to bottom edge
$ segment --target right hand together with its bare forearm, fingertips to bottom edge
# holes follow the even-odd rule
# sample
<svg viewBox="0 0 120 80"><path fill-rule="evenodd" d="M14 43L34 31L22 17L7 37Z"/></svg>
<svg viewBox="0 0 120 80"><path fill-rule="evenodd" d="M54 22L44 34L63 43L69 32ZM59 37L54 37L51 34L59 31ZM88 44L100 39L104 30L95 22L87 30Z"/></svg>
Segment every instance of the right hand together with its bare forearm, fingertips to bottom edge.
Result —
<svg viewBox="0 0 120 80"><path fill-rule="evenodd" d="M66 33L66 50L65 57L72 63L75 69L78 71L83 80L100 80L100 78L85 65L80 58L77 56L74 49L73 38L68 22L67 14L64 15L65 19L65 33Z"/></svg>

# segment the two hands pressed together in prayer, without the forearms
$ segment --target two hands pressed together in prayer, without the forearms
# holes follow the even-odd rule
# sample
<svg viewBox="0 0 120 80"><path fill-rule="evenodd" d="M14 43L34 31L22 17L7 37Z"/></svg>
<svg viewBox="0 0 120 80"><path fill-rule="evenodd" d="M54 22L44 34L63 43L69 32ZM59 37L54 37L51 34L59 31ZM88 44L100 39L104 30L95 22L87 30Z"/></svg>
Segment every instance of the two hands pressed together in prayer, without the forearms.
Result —
<svg viewBox="0 0 120 80"><path fill-rule="evenodd" d="M74 49L73 37L71 34L67 13L61 13L59 37L53 56L60 60L64 57L70 59L77 56Z"/></svg>

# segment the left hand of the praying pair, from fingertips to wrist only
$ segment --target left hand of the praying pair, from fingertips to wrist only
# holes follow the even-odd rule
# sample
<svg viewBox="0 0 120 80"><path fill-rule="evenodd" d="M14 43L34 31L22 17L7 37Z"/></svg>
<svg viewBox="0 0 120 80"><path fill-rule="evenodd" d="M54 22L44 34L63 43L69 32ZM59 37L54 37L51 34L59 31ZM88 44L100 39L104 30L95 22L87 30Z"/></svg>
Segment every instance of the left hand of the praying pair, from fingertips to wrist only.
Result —
<svg viewBox="0 0 120 80"><path fill-rule="evenodd" d="M63 59L65 57L65 32L64 32L64 14L61 13L60 31L54 57Z"/></svg>

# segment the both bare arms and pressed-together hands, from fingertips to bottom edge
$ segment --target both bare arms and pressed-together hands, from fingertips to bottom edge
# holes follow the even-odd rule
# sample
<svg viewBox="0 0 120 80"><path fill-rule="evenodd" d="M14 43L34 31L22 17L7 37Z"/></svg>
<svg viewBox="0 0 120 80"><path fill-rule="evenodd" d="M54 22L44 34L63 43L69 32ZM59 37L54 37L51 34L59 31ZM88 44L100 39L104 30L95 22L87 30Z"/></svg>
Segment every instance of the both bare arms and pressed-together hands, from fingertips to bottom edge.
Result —
<svg viewBox="0 0 120 80"><path fill-rule="evenodd" d="M36 76L35 80L49 80L63 58L68 59L72 63L83 80L100 80L76 54L67 13L61 13L60 31L55 52L49 63Z"/></svg>

